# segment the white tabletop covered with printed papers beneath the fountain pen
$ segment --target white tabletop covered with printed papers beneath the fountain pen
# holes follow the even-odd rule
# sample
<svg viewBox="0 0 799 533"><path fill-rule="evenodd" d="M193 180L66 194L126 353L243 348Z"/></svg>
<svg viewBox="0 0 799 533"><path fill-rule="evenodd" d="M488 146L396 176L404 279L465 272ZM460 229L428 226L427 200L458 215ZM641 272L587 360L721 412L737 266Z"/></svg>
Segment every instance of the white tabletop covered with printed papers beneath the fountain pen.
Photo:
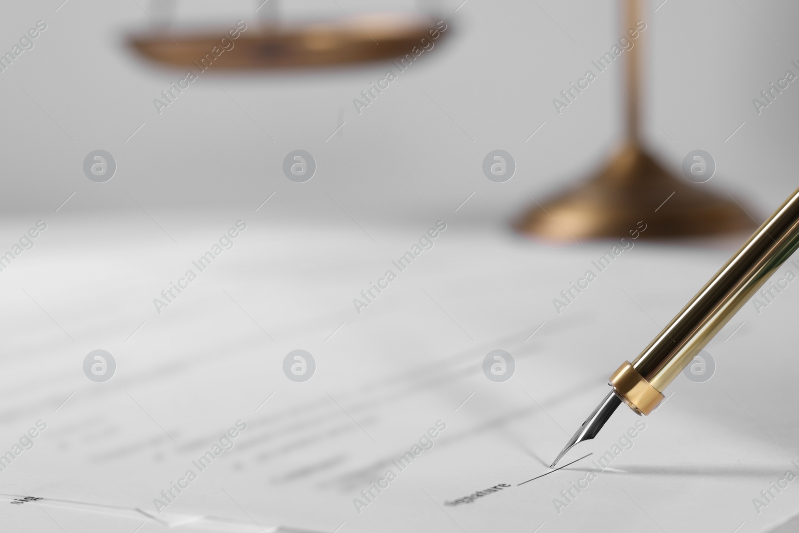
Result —
<svg viewBox="0 0 799 533"><path fill-rule="evenodd" d="M769 531L795 513L799 483L778 481L799 474L799 288L788 281L706 348L710 380L681 376L646 418L620 408L562 464L579 460L547 474L610 373L716 272L734 239L638 240L598 272L592 261L618 242L552 246L450 222L400 271L392 261L435 221L370 233L248 221L200 271L193 261L234 223L178 236L142 232L141 218L65 220L0 272L0 454L46 424L0 472L8 499L43 498L0 507L8 531L732 533ZM196 279L158 309L153 300L189 269ZM556 309L589 269L596 278ZM396 279L358 312L353 300L388 270ZM799 273L786 264L779 277L788 270ZM105 383L84 375L96 349L116 361ZM283 372L295 349L316 362L303 383ZM483 372L495 349L515 360L501 383ZM193 461L237 420L247 428L233 448L197 471ZM392 459L439 420L432 447L397 468ZM600 470L592 461L609 451ZM197 479L159 514L153 499L189 469ZM388 470L396 479L364 499ZM787 487L767 501L772 482Z"/></svg>

